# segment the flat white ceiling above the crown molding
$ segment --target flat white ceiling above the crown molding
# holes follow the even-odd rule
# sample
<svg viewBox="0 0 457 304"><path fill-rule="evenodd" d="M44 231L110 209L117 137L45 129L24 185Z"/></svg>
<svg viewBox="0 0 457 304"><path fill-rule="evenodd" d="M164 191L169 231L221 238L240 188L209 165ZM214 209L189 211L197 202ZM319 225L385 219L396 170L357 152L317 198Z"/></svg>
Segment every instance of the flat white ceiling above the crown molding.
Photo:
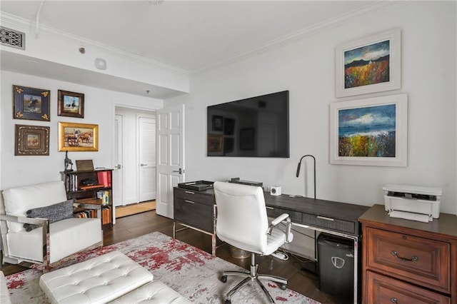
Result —
<svg viewBox="0 0 457 304"><path fill-rule="evenodd" d="M41 2L1 0L0 10L33 23ZM376 2L48 0L39 23L196 74L291 41Z"/></svg>

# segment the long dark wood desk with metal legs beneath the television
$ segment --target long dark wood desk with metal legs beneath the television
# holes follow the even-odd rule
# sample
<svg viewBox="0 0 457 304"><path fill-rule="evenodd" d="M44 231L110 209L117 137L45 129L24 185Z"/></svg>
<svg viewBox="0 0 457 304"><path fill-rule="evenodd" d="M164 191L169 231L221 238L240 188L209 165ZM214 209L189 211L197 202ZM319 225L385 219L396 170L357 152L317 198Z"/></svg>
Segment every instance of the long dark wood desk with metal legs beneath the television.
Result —
<svg viewBox="0 0 457 304"><path fill-rule="evenodd" d="M288 213L294 226L338 235L353 240L354 261L358 261L358 240L361 233L358 218L369 207L324 201L303 196L271 196L266 192L265 204L269 217ZM213 189L189 191L174 188L173 237L176 223L211 235L213 256L216 256L216 200ZM354 303L358 298L358 263L354 263Z"/></svg>

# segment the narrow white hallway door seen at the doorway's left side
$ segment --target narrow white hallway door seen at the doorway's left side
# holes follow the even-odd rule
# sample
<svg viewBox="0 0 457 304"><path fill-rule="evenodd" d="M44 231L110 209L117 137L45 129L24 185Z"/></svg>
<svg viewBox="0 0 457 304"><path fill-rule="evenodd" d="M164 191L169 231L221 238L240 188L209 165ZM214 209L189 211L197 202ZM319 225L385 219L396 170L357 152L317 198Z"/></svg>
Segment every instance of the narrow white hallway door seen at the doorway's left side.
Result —
<svg viewBox="0 0 457 304"><path fill-rule="evenodd" d="M116 114L114 116L114 171L113 171L113 204L114 206L122 205L122 196L124 190L124 170L123 166L123 148L122 131L124 116Z"/></svg>

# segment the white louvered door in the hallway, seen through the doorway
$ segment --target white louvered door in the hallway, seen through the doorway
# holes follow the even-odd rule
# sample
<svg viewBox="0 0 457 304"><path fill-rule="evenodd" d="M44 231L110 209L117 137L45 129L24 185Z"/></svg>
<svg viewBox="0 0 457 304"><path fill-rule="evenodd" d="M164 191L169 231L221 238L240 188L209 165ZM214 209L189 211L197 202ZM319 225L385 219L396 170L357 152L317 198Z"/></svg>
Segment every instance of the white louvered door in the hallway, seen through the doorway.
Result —
<svg viewBox="0 0 457 304"><path fill-rule="evenodd" d="M138 117L139 201L156 199L156 119Z"/></svg>

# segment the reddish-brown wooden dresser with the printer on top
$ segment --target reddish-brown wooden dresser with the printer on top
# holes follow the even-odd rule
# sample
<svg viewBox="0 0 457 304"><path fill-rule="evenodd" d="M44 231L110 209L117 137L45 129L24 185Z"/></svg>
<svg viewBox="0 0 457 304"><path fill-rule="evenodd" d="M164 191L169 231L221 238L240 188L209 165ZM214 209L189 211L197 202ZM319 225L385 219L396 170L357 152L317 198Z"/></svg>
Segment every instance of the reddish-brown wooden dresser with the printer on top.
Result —
<svg viewBox="0 0 457 304"><path fill-rule="evenodd" d="M421 223L374 205L358 221L363 303L457 304L457 216Z"/></svg>

